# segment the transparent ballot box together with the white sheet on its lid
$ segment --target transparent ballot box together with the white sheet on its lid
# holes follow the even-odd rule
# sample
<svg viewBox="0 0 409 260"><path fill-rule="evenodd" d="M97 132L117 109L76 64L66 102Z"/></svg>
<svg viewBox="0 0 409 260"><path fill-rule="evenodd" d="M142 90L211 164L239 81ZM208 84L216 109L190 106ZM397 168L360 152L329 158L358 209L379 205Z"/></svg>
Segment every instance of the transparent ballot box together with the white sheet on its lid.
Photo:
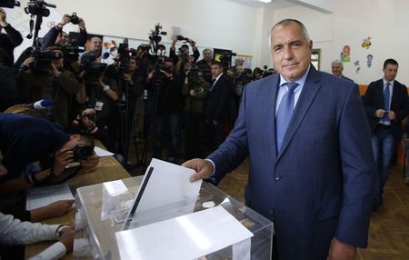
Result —
<svg viewBox="0 0 409 260"><path fill-rule="evenodd" d="M74 259L271 259L273 223L214 185L132 214L144 182L137 176L77 189ZM237 241L237 227L251 235Z"/></svg>

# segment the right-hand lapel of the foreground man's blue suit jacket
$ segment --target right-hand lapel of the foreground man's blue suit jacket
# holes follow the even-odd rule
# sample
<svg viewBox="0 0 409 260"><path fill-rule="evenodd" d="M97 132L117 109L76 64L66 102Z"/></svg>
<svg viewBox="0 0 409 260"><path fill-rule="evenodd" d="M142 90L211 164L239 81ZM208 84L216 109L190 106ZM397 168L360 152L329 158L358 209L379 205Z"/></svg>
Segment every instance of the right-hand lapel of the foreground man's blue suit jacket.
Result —
<svg viewBox="0 0 409 260"><path fill-rule="evenodd" d="M285 132L283 139L283 147L278 152L277 162L280 159L281 155L284 154L284 151L287 149L288 144L291 142L296 130L300 126L301 122L304 119L306 112L314 101L315 95L320 89L320 77L318 72L314 69L314 66L311 65L310 72L305 80L302 93L298 98L297 105L295 105L293 116L291 117L288 128ZM274 102L275 104L275 102ZM274 120L275 122L275 120ZM275 123L274 123L275 127ZM275 128L274 128L275 129ZM274 132L275 133L275 132ZM275 137L274 137L275 140Z"/></svg>

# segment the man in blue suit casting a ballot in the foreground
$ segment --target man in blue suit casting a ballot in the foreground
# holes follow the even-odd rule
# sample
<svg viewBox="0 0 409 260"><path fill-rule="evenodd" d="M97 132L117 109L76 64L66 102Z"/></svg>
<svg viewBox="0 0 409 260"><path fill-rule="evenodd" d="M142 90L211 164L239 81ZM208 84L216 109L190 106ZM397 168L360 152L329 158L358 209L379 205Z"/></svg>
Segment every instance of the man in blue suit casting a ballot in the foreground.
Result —
<svg viewBox="0 0 409 260"><path fill-rule="evenodd" d="M274 222L275 260L354 259L367 245L374 155L364 107L354 83L314 69L312 48L299 21L274 25L278 74L247 85L224 144L184 164L191 181L218 182L249 155L245 200Z"/></svg>

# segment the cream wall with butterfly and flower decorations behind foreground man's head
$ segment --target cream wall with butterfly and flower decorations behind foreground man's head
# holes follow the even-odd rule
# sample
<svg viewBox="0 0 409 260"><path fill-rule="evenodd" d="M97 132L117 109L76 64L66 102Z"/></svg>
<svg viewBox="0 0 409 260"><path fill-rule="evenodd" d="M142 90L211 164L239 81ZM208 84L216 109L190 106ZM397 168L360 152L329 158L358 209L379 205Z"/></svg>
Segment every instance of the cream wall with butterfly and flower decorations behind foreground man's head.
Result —
<svg viewBox="0 0 409 260"><path fill-rule="evenodd" d="M399 63L396 79L408 85L409 59L404 52L409 42L408 9L409 2L400 0L335 0L334 14L294 6L274 11L274 22L284 17L302 21L310 31L314 47L321 48L323 71L331 73L331 62L340 57L344 45L350 45L351 62L344 63L344 75L367 85L383 77L384 60L394 58ZM368 36L372 45L365 49L361 45ZM370 68L366 65L369 54L374 55ZM358 73L354 65L356 60L360 62Z"/></svg>

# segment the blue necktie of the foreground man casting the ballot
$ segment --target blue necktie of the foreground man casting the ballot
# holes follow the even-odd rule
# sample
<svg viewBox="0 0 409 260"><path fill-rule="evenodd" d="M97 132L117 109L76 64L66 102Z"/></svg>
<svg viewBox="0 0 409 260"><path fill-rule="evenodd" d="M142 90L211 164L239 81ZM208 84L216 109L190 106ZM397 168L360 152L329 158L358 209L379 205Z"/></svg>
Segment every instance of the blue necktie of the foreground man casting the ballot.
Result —
<svg viewBox="0 0 409 260"><path fill-rule="evenodd" d="M278 106L277 115L275 117L275 129L277 139L277 151L280 151L281 145L287 126L290 123L291 115L294 110L294 89L298 83L287 83L287 92L284 94L280 105Z"/></svg>

